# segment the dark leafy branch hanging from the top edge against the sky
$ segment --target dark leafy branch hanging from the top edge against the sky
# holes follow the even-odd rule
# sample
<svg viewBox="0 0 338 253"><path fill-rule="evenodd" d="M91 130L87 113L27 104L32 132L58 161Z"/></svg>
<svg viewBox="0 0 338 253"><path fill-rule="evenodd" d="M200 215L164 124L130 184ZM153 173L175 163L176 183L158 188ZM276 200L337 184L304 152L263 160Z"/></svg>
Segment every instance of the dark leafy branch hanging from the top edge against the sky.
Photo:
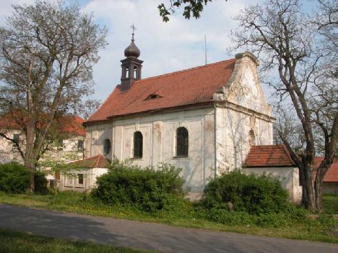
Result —
<svg viewBox="0 0 338 253"><path fill-rule="evenodd" d="M159 15L164 22L168 22L170 14L174 13L175 10L181 6L184 6L183 17L190 19L192 16L195 17L195 19L199 19L199 17L201 17L201 12L203 11L203 6L206 6L208 2L211 1L212 0L170 0L169 7L166 7L164 3L161 3L157 8L159 8Z"/></svg>

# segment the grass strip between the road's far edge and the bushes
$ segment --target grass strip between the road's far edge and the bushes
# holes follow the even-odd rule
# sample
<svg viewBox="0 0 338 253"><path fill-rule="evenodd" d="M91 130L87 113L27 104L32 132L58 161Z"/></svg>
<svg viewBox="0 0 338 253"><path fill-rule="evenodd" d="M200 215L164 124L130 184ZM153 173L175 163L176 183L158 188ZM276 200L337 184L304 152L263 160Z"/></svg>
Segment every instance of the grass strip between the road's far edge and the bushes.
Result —
<svg viewBox="0 0 338 253"><path fill-rule="evenodd" d="M326 205L331 203L331 209L337 209L337 197L330 196L324 198ZM131 219L138 221L148 221L165 223L181 227L195 227L200 229L239 232L245 234L255 234L261 236L284 237L289 239L304 239L310 241L323 241L338 243L337 234L330 232L328 227L337 227L337 219L308 219L299 223L295 221L292 225L281 227L266 227L257 225L225 225L198 218L196 211L188 205L185 210L179 212L157 212L148 214L135 208L128 208L119 205L104 205L94 202L88 195L76 192L61 192L57 197L52 194L5 194L0 192L0 203L11 205L23 205L30 208L44 208L59 210L64 212L74 212L78 214L89 214L95 216L108 216L119 219ZM332 207L335 205L335 207ZM324 217L326 218L326 217Z"/></svg>

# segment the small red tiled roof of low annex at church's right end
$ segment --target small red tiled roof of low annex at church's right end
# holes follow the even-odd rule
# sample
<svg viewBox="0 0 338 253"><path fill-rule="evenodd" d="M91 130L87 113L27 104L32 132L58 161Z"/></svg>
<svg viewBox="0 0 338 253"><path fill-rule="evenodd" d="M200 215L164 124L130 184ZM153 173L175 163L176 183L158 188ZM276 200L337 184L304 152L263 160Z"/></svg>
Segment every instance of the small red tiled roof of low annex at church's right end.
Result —
<svg viewBox="0 0 338 253"><path fill-rule="evenodd" d="M254 145L243 167L283 167L295 165L284 145Z"/></svg>

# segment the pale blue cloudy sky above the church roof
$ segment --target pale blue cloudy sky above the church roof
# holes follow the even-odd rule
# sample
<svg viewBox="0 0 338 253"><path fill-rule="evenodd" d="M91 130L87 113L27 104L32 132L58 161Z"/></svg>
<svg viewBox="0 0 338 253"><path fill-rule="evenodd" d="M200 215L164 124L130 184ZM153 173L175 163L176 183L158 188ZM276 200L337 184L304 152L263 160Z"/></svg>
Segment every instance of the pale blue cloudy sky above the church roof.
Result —
<svg viewBox="0 0 338 253"><path fill-rule="evenodd" d="M34 0L1 1L0 26L12 13L12 4L29 4ZM205 63L204 35L207 38L207 61L214 63L234 57L227 53L230 33L237 28L232 20L248 4L259 0L212 1L204 8L200 19L184 19L181 12L163 22L159 16L159 3L168 0L79 0L83 12L92 12L95 21L109 30L109 45L100 50L101 59L93 69L95 94L92 99L104 101L121 79L123 51L130 44L135 24L135 43L143 61L142 78L192 68ZM244 49L243 49L244 50ZM239 50L239 51L243 51ZM238 52L239 52L238 51ZM266 98L270 90L264 87Z"/></svg>

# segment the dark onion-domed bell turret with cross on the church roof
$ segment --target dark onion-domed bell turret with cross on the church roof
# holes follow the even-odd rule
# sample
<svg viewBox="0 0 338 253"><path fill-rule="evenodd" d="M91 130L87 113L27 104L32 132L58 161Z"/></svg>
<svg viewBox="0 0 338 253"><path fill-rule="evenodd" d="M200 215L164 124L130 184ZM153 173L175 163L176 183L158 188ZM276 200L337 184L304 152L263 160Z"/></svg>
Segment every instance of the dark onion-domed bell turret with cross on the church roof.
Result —
<svg viewBox="0 0 338 253"><path fill-rule="evenodd" d="M136 80L141 79L141 68L143 61L139 60L139 48L135 45L135 26L132 25L132 43L124 50L125 59L121 60L121 91L129 90Z"/></svg>

